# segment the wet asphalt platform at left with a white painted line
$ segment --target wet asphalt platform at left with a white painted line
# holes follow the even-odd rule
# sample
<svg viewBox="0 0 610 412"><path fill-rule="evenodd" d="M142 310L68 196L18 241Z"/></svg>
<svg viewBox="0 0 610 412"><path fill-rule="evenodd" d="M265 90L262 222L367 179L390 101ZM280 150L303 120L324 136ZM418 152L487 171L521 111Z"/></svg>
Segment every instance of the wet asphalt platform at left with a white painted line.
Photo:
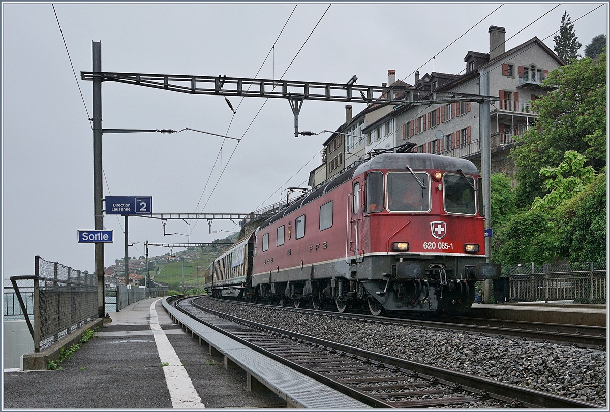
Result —
<svg viewBox="0 0 610 412"><path fill-rule="evenodd" d="M170 390L176 388L168 388L168 368L161 366L151 329L153 303L160 329L194 389L179 397L192 402L172 401ZM183 332L160 299L140 300L112 313L112 322L100 327L96 336L63 361L61 370L4 372L2 409L286 407L286 401L271 391L247 390L245 372L224 368L223 355L210 355L198 339Z"/></svg>

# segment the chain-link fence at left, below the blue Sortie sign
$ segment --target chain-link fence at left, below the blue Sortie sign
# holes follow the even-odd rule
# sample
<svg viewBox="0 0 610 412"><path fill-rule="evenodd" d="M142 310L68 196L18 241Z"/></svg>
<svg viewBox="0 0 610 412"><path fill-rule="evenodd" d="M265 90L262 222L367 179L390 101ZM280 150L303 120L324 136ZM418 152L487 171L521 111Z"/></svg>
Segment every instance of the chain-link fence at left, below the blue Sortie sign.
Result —
<svg viewBox="0 0 610 412"><path fill-rule="evenodd" d="M12 276L10 281L15 291L11 299L19 301L34 340L34 351L39 352L98 318L98 280L95 274L75 271L40 256L34 259L34 276ZM33 308L27 305L28 289ZM30 321L32 309L34 325Z"/></svg>

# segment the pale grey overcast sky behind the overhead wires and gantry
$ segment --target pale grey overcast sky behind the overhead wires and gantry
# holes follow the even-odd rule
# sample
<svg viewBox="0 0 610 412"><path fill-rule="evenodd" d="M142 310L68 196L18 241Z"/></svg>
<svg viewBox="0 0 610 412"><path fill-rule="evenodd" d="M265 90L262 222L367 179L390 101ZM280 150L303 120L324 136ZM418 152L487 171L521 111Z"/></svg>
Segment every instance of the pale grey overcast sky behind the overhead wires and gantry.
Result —
<svg viewBox="0 0 610 412"><path fill-rule="evenodd" d="M433 70L459 73L468 51L489 52L489 26L506 28L506 50L534 36L553 49L564 10L584 54L593 37L607 35L608 5L591 12L600 4L506 2L495 10L501 3L359 2L329 9L329 3L300 3L296 9L296 3L279 2L57 3L83 104L52 4L3 2L3 277L34 274L35 255L74 269L95 269L93 245L77 243L78 229L94 228L93 133L85 110L86 105L92 115L92 85L80 80L81 71L91 71L91 41L102 42L103 71L254 77L285 24L257 77L278 79L304 44L284 79L345 83L356 74L360 85L381 85L388 81L388 69L395 69L397 79L412 84L416 69L422 76ZM106 134L104 196L152 196L154 213L248 213L285 199L289 186L306 186L329 134L294 138L292 111L284 99L230 100L235 116L222 96L104 82L104 128L190 127L243 137L237 149L237 141L224 141L217 160L220 137L189 131ZM364 108L353 106L354 114ZM334 130L344 121L345 103L305 101L300 130ZM104 217L115 236L106 245L106 266L124 256L123 221ZM146 240L207 243L239 226L214 221L212 230L220 232L210 234L206 221L190 226L168 221L165 230L181 234L163 236L160 221L130 218L129 239L138 242L130 255L143 255ZM167 252L150 249L151 256Z"/></svg>

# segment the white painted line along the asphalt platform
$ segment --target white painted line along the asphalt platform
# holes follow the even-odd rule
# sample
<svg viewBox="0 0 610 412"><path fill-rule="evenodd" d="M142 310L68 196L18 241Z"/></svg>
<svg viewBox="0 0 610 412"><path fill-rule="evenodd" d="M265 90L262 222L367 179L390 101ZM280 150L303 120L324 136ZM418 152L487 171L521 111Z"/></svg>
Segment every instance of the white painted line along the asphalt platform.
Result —
<svg viewBox="0 0 610 412"><path fill-rule="evenodd" d="M163 366L163 373L165 374L167 388L170 390L171 406L178 409L203 409L206 405L201 402L201 398L190 377L188 377L186 369L182 366L178 354L161 329L159 316L157 316L157 311L154 308L157 302L159 302L159 299L151 304L150 323L161 363L169 363L168 366Z"/></svg>

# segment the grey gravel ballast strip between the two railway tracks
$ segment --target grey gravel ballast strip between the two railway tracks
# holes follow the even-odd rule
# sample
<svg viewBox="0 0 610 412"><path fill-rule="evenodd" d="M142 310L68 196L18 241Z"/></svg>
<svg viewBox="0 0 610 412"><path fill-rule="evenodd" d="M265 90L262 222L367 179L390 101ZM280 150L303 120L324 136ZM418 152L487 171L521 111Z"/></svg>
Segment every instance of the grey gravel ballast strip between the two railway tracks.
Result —
<svg viewBox="0 0 610 412"><path fill-rule="evenodd" d="M606 405L604 350L381 325L207 298L197 303L304 335Z"/></svg>

